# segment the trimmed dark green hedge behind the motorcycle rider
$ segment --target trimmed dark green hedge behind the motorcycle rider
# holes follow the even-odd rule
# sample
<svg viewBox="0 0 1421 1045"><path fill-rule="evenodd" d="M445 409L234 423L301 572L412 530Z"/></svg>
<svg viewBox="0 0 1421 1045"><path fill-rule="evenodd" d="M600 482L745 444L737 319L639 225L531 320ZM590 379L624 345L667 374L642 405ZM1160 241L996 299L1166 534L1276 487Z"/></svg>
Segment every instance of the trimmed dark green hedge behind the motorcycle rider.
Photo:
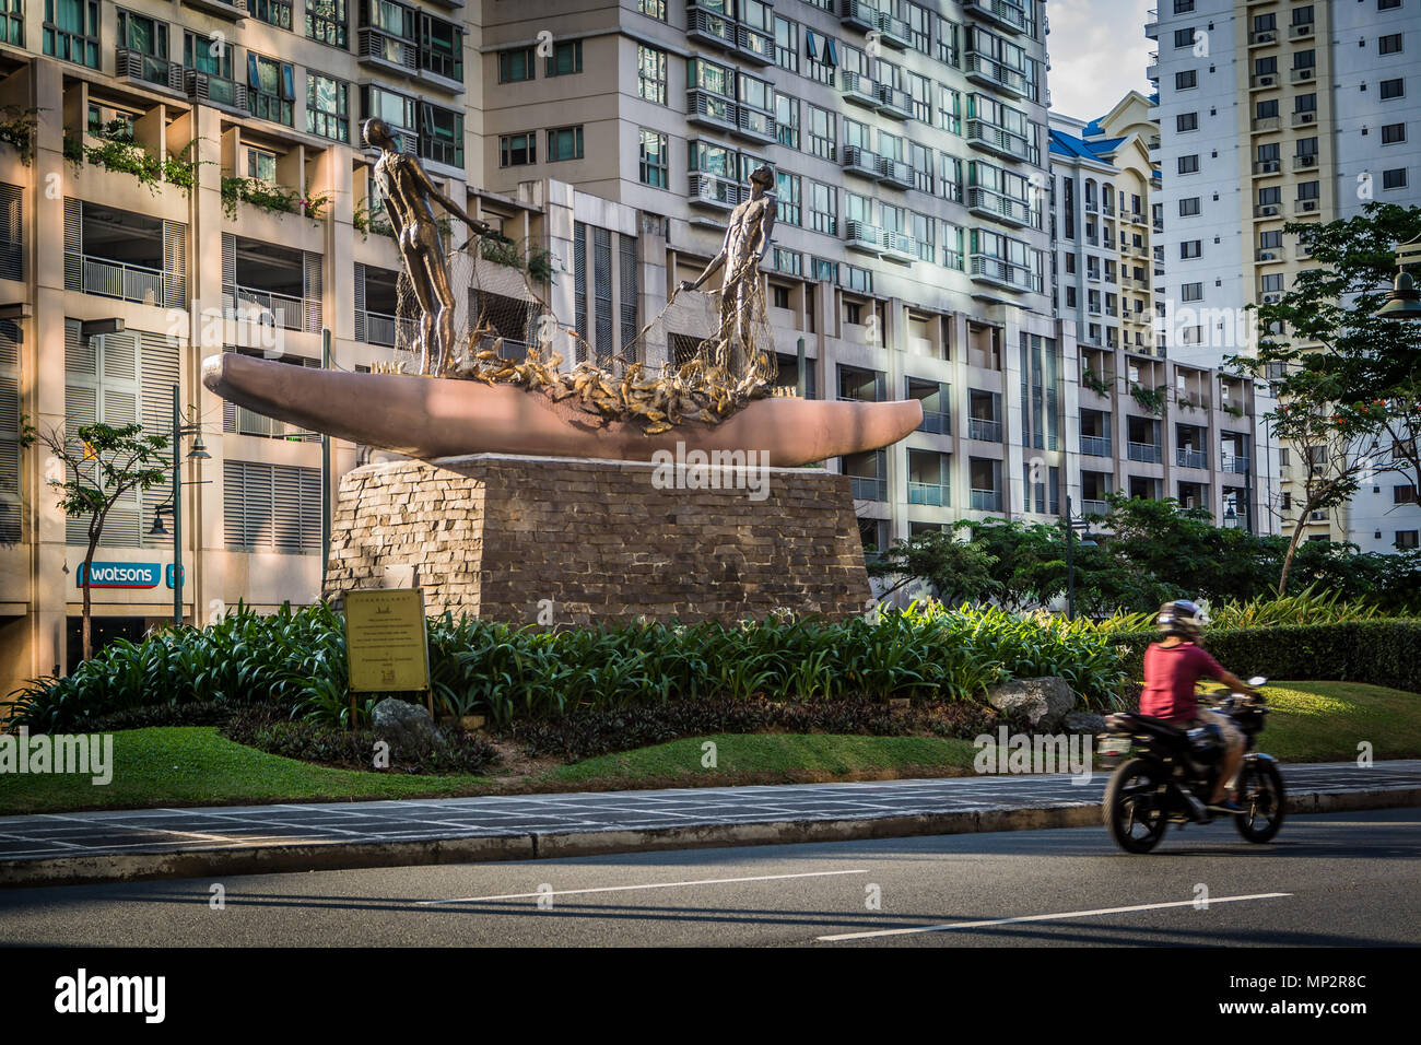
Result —
<svg viewBox="0 0 1421 1045"><path fill-rule="evenodd" d="M1145 647L1157 636L1134 631L1111 638L1125 647L1127 674L1141 678ZM1209 630L1204 645L1241 678L1317 678L1421 692L1421 620L1417 618Z"/></svg>

